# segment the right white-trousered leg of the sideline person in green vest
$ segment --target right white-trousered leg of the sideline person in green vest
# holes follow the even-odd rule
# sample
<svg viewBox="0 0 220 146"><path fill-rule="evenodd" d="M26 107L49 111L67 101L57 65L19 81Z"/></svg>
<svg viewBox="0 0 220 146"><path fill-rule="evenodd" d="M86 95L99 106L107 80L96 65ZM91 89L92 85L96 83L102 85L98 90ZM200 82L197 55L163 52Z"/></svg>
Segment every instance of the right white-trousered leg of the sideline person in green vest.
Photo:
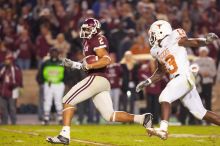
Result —
<svg viewBox="0 0 220 146"><path fill-rule="evenodd" d="M57 120L58 120L59 124L62 124L62 110L63 110L62 97L64 94L64 90L65 90L65 86L63 83L54 84L54 86L53 86L54 103L56 106Z"/></svg>

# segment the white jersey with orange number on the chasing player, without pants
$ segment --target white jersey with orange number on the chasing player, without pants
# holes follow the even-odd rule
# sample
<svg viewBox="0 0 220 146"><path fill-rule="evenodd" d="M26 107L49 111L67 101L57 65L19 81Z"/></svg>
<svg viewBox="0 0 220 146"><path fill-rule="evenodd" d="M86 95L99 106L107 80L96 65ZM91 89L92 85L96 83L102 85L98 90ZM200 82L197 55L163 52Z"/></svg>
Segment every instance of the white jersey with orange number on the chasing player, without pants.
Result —
<svg viewBox="0 0 220 146"><path fill-rule="evenodd" d="M183 29L175 29L162 40L161 47L152 47L150 53L159 63L165 65L171 78L178 74L183 74L192 80L186 48L178 44L183 37L186 37L185 31Z"/></svg>

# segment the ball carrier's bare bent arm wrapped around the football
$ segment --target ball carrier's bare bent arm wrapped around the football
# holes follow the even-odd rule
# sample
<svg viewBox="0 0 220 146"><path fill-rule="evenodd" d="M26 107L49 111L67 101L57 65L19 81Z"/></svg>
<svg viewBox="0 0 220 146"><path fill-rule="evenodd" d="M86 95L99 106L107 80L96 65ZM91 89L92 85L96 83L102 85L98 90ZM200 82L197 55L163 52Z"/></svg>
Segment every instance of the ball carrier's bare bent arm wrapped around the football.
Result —
<svg viewBox="0 0 220 146"><path fill-rule="evenodd" d="M111 63L111 58L109 57L109 54L105 48L96 49L95 52L96 55L99 57L99 60L92 64L87 64L87 70L103 68Z"/></svg>

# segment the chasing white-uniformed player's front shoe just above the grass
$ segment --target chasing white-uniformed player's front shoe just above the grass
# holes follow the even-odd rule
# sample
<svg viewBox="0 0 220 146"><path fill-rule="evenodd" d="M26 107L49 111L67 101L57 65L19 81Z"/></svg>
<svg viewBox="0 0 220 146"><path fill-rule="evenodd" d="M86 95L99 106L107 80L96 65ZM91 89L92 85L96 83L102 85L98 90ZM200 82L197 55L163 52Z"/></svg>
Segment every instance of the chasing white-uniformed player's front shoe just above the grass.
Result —
<svg viewBox="0 0 220 146"><path fill-rule="evenodd" d="M160 128L147 128L147 133L148 133L148 136L150 137L152 135L155 135L163 140L166 140L168 138L168 132Z"/></svg>

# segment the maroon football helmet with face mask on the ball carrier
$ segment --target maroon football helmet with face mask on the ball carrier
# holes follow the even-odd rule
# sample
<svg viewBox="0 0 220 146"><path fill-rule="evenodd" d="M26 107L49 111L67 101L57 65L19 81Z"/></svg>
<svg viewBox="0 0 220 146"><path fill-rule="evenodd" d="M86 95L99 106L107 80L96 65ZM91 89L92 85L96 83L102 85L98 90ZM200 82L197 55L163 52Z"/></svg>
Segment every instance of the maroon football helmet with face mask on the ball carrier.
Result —
<svg viewBox="0 0 220 146"><path fill-rule="evenodd" d="M80 38L91 39L94 34L99 32L101 24L95 18L88 18L84 21L80 30Z"/></svg>

